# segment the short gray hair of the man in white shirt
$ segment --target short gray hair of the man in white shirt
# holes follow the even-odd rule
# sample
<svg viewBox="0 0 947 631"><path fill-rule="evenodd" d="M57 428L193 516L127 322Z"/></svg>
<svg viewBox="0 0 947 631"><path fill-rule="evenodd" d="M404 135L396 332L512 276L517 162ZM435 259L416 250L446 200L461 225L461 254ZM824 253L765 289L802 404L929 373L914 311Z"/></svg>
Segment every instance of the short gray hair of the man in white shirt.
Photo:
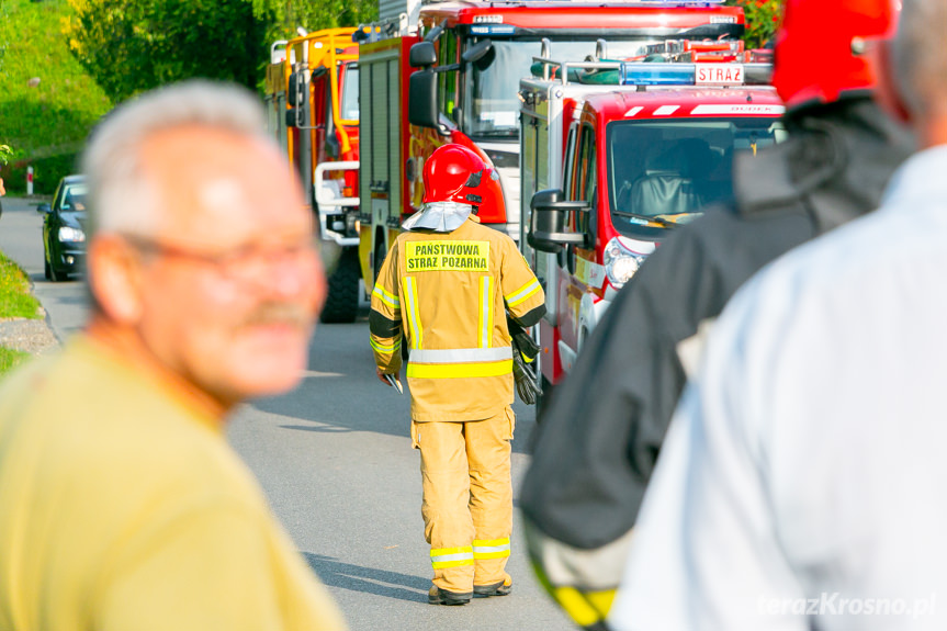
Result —
<svg viewBox="0 0 947 631"><path fill-rule="evenodd" d="M929 114L938 99L947 99L945 44L947 0L902 0L892 60L899 95L913 116Z"/></svg>

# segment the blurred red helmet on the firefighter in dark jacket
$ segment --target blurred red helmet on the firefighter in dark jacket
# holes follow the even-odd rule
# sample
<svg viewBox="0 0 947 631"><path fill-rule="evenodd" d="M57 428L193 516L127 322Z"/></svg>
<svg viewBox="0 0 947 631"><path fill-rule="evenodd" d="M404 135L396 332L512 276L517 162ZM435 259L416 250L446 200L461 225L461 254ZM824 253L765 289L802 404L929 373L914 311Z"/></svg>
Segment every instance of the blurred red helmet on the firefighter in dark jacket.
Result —
<svg viewBox="0 0 947 631"><path fill-rule="evenodd" d="M894 0L786 0L773 83L787 108L875 88L864 43L890 36Z"/></svg>

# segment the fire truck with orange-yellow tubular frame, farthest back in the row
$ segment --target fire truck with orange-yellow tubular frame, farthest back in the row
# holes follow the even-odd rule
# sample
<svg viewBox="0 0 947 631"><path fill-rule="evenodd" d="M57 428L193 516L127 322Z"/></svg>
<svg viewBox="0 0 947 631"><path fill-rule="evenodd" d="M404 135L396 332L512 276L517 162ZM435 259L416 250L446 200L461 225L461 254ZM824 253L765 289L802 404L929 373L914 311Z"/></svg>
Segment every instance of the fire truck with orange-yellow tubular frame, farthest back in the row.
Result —
<svg viewBox="0 0 947 631"><path fill-rule="evenodd" d="M269 128L308 192L324 249L340 250L320 316L326 323L353 322L359 308L358 217L351 211L359 159L356 31L328 29L277 42L267 68Z"/></svg>

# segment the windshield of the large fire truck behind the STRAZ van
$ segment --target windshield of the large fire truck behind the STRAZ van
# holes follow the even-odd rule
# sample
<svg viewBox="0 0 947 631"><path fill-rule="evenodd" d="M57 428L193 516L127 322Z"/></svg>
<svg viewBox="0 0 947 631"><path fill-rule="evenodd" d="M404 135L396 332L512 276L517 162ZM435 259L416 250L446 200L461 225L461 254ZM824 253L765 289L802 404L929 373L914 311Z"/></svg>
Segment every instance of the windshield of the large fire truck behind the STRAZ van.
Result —
<svg viewBox="0 0 947 631"><path fill-rule="evenodd" d="M609 40L609 59L643 55L657 40ZM473 45L475 41L467 42ZM582 61L595 55L595 40L552 40L550 57L556 61ZM516 138L519 135L519 80L531 75L532 58L539 57L539 40L493 40L487 56L472 66L470 89L464 90L463 131L469 136Z"/></svg>

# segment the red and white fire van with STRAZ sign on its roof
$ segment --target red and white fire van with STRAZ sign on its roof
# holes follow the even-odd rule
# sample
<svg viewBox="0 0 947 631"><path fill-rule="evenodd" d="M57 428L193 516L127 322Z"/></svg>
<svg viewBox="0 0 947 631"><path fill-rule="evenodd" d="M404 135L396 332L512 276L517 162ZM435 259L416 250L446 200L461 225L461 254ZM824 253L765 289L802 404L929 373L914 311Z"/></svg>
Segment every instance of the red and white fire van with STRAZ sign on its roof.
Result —
<svg viewBox="0 0 947 631"><path fill-rule="evenodd" d="M632 61L538 59L543 76L520 82L520 247L545 289L545 388L662 238L732 200L733 153L785 137L771 67L747 58L739 42L667 41Z"/></svg>

